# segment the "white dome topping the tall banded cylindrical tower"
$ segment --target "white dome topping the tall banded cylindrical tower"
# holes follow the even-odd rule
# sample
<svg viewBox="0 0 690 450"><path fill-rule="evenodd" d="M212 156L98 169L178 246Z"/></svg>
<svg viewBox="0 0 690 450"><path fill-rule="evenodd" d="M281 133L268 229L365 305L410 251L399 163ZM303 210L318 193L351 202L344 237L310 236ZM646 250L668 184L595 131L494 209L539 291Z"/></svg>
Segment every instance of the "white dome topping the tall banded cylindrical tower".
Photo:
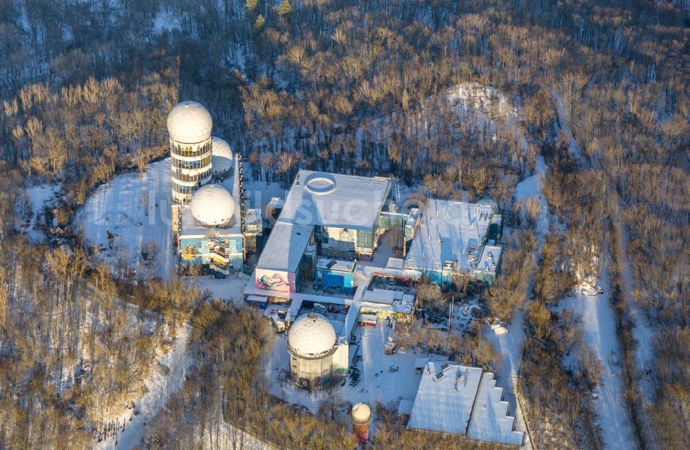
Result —
<svg viewBox="0 0 690 450"><path fill-rule="evenodd" d="M201 103L177 103L168 114L170 139L185 144L204 142L211 136L213 119Z"/></svg>

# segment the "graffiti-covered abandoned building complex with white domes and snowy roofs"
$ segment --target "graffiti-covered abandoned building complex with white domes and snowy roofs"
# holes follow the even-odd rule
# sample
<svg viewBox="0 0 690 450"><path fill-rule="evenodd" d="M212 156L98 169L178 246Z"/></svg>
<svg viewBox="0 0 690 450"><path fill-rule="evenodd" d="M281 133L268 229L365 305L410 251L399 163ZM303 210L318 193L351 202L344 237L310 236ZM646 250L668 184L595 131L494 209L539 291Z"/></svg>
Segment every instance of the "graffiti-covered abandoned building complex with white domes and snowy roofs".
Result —
<svg viewBox="0 0 690 450"><path fill-rule="evenodd" d="M491 285L500 271L502 217L493 201L400 207L390 178L299 170L284 199L247 209L242 158L212 128L199 103L179 103L168 116L180 267L219 277L253 271L244 300L286 331L284 369L298 390L344 385L363 351L363 327L413 324L421 280L442 289ZM247 267L247 248L258 248L262 234L262 252ZM396 345L390 335L380 351L393 355ZM407 368L421 376L417 394L400 402L408 428L522 444L493 374L419 360Z"/></svg>

